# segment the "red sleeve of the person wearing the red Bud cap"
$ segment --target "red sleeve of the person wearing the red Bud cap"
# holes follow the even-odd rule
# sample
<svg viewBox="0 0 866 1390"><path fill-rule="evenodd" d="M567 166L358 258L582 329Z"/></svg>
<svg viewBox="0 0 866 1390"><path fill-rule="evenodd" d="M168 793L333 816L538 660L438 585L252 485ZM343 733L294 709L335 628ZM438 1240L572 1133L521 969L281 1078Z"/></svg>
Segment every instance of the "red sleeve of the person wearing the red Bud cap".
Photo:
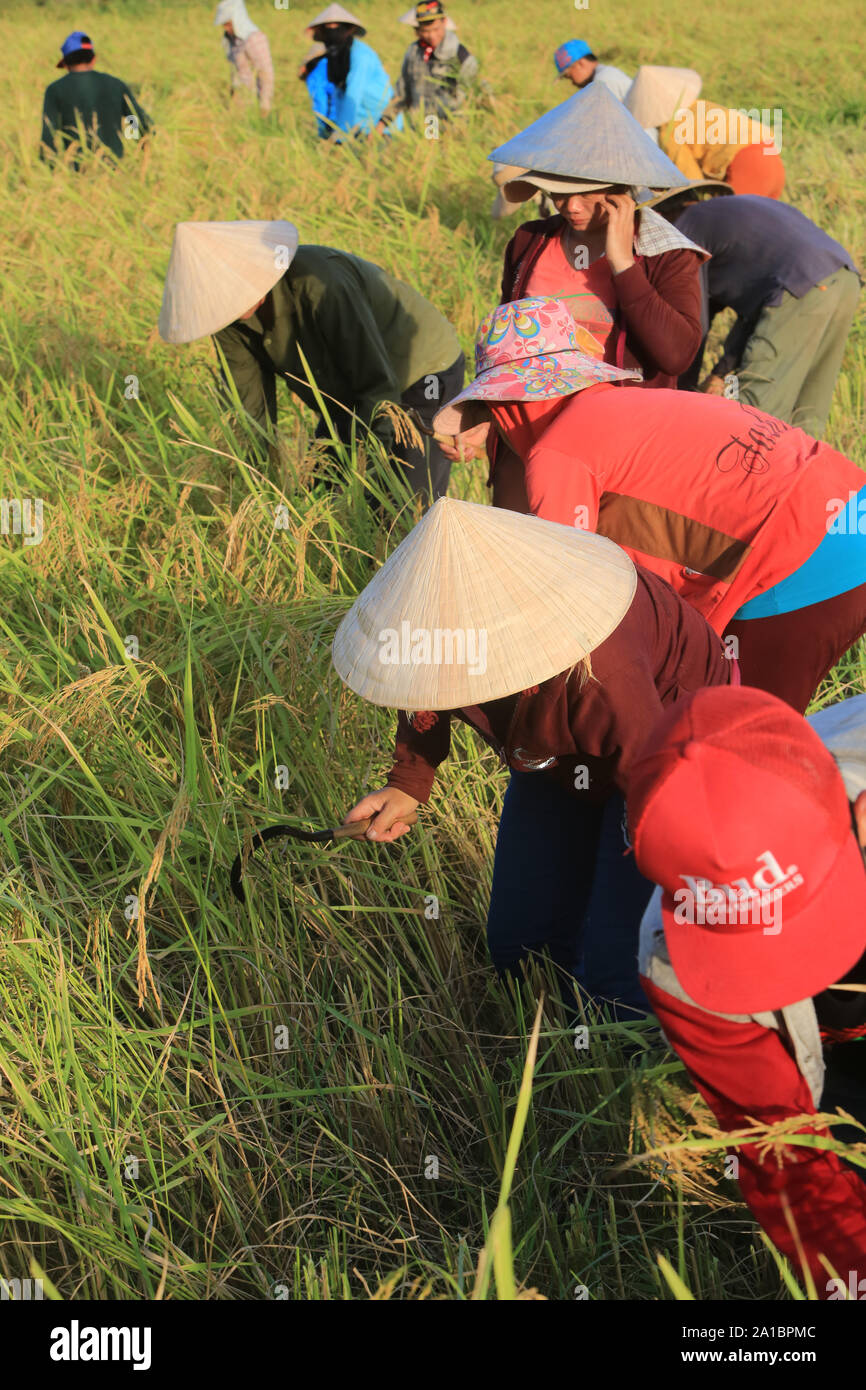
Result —
<svg viewBox="0 0 866 1390"><path fill-rule="evenodd" d="M733 1023L677 999L644 976L641 984L664 1036L724 1130L748 1129L815 1115L806 1079L781 1036L760 1023ZM826 1134L803 1125L798 1133ZM740 1187L767 1236L799 1272L796 1244L788 1230L790 1207L816 1291L827 1298L830 1273L823 1254L848 1284L849 1270L866 1275L866 1184L835 1154L790 1144L784 1163L760 1145L737 1148ZM778 1151L777 1151L778 1152ZM838 1297L838 1293L835 1294Z"/></svg>

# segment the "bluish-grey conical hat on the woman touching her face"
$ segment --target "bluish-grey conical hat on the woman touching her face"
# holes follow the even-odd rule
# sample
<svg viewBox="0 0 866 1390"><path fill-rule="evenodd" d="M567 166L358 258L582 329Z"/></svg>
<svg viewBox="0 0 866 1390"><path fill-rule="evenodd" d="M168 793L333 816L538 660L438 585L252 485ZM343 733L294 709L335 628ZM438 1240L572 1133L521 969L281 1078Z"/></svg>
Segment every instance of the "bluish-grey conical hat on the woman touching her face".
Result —
<svg viewBox="0 0 866 1390"><path fill-rule="evenodd" d="M683 171L601 82L591 82L488 154L502 164L628 188L670 188Z"/></svg>

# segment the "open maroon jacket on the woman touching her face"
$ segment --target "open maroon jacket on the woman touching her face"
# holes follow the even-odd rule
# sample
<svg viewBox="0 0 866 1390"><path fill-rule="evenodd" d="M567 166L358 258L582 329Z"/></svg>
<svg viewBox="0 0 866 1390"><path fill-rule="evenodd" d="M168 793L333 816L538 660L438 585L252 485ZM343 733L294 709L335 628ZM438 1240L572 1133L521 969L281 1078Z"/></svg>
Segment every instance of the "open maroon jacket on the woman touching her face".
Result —
<svg viewBox="0 0 866 1390"><path fill-rule="evenodd" d="M556 214L517 228L505 250L503 304L525 296L535 261L563 227ZM685 247L635 256L634 265L613 277L613 288L619 307L605 360L621 366L627 348L644 371L645 386L676 388L703 338L701 257Z"/></svg>

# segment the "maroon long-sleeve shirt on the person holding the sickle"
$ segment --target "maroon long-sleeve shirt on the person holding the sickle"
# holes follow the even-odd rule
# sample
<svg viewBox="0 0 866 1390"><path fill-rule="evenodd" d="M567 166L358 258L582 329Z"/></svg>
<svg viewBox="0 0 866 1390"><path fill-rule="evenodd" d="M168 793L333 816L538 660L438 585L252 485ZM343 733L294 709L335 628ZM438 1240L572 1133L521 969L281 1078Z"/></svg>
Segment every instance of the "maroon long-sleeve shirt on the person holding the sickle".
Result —
<svg viewBox="0 0 866 1390"><path fill-rule="evenodd" d="M639 567L626 617L591 660L592 678L585 682L578 669L466 709L402 712L388 785L428 801L456 717L509 766L530 770L549 763L545 776L575 795L603 801L614 787L626 790L631 760L663 709L705 685L728 685L735 670L701 613Z"/></svg>

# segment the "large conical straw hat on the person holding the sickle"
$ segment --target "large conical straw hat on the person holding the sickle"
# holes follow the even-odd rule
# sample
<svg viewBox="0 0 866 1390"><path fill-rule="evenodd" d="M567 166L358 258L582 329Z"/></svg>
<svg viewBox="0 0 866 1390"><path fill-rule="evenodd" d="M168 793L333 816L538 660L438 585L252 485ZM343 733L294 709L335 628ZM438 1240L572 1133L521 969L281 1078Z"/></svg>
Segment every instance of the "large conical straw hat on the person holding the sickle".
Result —
<svg viewBox="0 0 866 1390"><path fill-rule="evenodd" d="M605 537L442 498L346 613L334 666L392 709L499 699L588 656L635 585L634 564Z"/></svg>

